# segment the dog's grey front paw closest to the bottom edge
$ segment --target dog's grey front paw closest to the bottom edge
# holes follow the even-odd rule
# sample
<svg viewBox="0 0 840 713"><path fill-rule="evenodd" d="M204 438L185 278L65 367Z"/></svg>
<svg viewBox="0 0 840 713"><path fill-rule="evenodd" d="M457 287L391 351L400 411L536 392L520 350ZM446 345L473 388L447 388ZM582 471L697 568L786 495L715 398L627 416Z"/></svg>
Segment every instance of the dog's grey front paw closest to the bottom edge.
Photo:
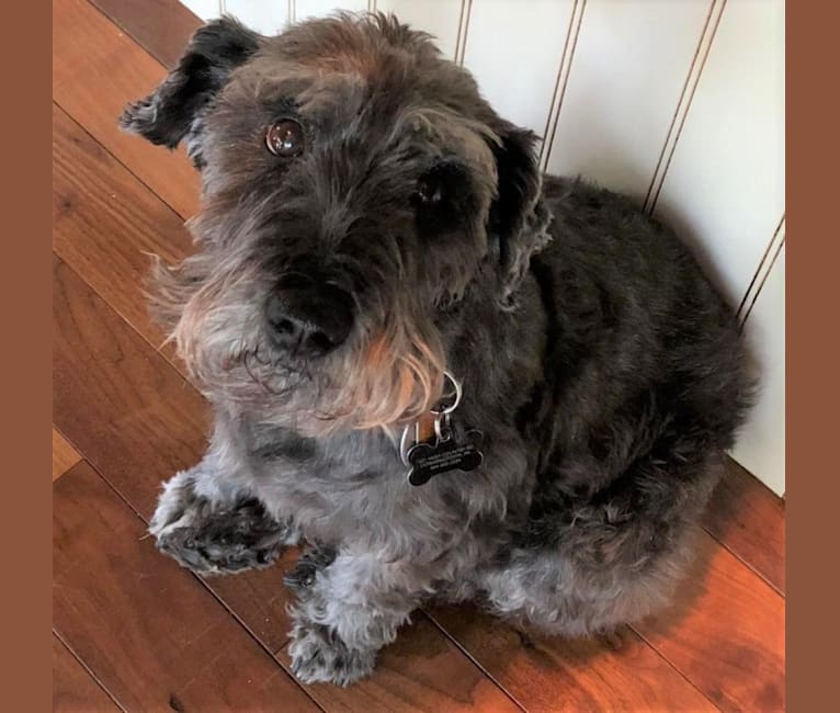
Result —
<svg viewBox="0 0 840 713"><path fill-rule="evenodd" d="M292 672L304 683L349 686L373 671L376 652L357 650L320 624L298 624L288 644Z"/></svg>

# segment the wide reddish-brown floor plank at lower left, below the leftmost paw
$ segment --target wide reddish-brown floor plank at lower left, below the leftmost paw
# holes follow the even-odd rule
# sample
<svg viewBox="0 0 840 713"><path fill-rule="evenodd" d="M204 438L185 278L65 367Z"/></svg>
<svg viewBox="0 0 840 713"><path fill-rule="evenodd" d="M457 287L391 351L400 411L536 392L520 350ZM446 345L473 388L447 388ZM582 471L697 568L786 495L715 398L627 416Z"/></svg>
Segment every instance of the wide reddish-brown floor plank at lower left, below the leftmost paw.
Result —
<svg viewBox="0 0 840 713"><path fill-rule="evenodd" d="M87 463L53 502L55 629L126 709L317 711Z"/></svg>

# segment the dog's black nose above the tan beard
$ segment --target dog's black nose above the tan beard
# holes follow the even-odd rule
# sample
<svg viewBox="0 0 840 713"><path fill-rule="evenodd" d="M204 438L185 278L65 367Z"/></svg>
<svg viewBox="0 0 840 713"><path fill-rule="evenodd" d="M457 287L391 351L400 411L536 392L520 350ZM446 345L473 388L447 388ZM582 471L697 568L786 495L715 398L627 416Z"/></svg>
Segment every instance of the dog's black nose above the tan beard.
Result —
<svg viewBox="0 0 840 713"><path fill-rule="evenodd" d="M350 295L331 284L293 276L281 282L265 304L274 344L300 356L318 356L339 347L353 327Z"/></svg>

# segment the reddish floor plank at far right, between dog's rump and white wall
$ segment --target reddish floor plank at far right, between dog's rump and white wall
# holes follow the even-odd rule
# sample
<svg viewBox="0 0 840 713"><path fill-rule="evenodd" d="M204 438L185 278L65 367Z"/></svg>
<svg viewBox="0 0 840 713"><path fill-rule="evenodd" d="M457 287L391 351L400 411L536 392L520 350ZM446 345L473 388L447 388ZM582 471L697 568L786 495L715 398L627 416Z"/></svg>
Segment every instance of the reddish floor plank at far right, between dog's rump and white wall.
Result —
<svg viewBox="0 0 840 713"><path fill-rule="evenodd" d="M703 527L785 593L784 500L731 459L712 495Z"/></svg>

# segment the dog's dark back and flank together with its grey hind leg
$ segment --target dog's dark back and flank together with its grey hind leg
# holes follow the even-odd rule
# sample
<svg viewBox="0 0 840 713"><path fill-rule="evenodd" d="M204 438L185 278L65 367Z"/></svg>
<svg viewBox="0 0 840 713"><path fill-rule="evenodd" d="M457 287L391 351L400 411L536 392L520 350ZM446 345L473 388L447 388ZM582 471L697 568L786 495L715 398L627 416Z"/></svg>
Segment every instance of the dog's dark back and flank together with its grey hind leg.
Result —
<svg viewBox="0 0 840 713"><path fill-rule="evenodd" d="M536 487L484 587L502 613L581 634L667 600L751 388L733 310L669 228L582 181L544 192L544 380L520 415Z"/></svg>

